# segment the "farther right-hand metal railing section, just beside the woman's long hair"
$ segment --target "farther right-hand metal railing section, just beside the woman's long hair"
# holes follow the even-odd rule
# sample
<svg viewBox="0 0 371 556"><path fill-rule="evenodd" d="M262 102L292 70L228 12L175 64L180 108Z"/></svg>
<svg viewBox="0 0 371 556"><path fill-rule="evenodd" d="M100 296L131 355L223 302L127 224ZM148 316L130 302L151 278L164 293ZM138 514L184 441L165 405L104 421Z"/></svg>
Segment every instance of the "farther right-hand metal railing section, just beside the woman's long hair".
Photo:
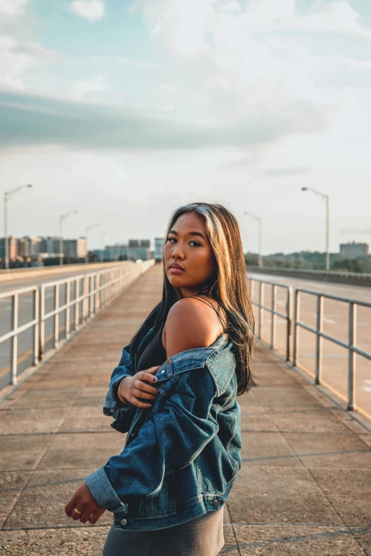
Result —
<svg viewBox="0 0 371 556"><path fill-rule="evenodd" d="M259 300L254 300L254 283L259 284ZM264 305L264 293L265 286L271 288L271 306L267 307ZM250 288L250 299L252 300L252 305L257 306L259 309L259 323L257 330L257 339L263 339L263 327L264 327L264 310L271 314L271 327L270 327L270 339L269 346L271 349L276 349L276 317L281 317L286 320L286 361L290 361L291 356L291 313L292 313L292 287L291 285L279 284L275 282L269 282L267 280L259 280L259 278L250 278L249 280ZM277 288L281 288L286 291L286 312L282 313L277 311Z"/></svg>

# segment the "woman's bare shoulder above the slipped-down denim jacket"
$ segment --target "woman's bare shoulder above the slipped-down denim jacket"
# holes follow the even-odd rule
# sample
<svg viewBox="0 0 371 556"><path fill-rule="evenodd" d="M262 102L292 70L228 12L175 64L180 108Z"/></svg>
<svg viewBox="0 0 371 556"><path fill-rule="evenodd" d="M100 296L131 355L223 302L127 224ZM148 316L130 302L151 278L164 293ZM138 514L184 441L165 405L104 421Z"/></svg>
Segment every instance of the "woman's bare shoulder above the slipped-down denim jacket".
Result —
<svg viewBox="0 0 371 556"><path fill-rule="evenodd" d="M215 302L213 305L216 308ZM199 299L183 298L168 312L163 334L166 355L210 346L221 332L220 320L212 307Z"/></svg>

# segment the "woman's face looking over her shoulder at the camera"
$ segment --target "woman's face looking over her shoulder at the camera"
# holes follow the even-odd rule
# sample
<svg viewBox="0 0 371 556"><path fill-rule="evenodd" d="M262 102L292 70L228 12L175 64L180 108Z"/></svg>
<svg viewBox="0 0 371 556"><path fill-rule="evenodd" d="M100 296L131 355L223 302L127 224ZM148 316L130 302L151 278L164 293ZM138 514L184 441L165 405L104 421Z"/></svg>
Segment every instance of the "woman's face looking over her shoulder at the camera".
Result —
<svg viewBox="0 0 371 556"><path fill-rule="evenodd" d="M166 276L174 288L181 288L183 297L198 293L216 268L205 222L195 212L186 212L176 220L163 254Z"/></svg>

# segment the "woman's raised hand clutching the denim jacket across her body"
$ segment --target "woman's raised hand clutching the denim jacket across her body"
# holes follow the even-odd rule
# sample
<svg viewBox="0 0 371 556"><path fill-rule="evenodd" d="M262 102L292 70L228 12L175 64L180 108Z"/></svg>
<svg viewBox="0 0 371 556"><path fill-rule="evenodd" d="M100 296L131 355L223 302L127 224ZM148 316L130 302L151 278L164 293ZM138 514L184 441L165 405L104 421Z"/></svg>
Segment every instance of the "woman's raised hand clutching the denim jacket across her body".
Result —
<svg viewBox="0 0 371 556"><path fill-rule="evenodd" d="M146 371L139 371L134 376L128 376L119 386L119 396L128 402L136 405L137 408L151 408L151 403L145 403L144 400L156 400L158 395L157 388L150 386L156 383L157 378L154 374L160 369L161 365L151 367Z"/></svg>

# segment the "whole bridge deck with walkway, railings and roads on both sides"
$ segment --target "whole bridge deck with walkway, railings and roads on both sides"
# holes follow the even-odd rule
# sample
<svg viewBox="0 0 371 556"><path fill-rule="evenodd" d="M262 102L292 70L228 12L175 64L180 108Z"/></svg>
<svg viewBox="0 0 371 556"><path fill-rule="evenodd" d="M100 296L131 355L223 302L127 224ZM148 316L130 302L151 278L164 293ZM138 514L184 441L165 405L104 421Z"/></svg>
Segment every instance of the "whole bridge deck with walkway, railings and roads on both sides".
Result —
<svg viewBox="0 0 371 556"><path fill-rule="evenodd" d="M16 342L20 349L13 360L7 361L5 352L1 352L4 369L10 367L4 376L8 382L16 379L3 389L0 404L1 556L102 553L111 514L105 512L96 525L82 525L66 518L63 508L87 474L107 462L110 455L122 451L125 435L112 431L109 418L102 414L102 405L122 346L161 296L161 268L148 263L95 270L89 279L81 271L69 278L50 276L52 285L42 289L41 283L32 289L35 281L32 285L22 282L22 278L12 284L12 290L15 285L26 291L10 297L9 290L1 293L1 300L11 300L9 314L14 316L15 308L19 310L17 327L33 322L26 330L44 340L41 353L40 342L33 337L31 359L36 359L33 362L38 365L28 366L23 372L16 363L18 356L24 355L26 344ZM39 278L45 283L45 277ZM311 305L313 293L302 293L302 298L308 296L308 300L301 299L301 315L296 313L299 318L294 318L294 305L291 314L286 314L287 300L292 295L289 286L294 287L293 291L302 288L333 295L334 288L346 285L308 284L302 280L295 284L288 283L285 277L285 287L280 288L268 284L282 283L277 276L259 274L252 278L257 334L261 337L254 357L258 387L237 398L242 410L242 470L225 506L225 547L221 553L371 555L371 433L365 415L369 398L360 398L360 388L355 389L355 407L360 398L365 408L347 410L348 392L344 394L340 388L343 370L341 381L338 378L334 383L328 376L332 367L326 366L327 362L342 359L336 351L333 356L333 347L323 347L321 359L326 365L320 366L321 384L313 385L316 369L311 369L308 361L318 363L318 335L314 334L314 345L313 340L310 344L309 337L303 335L310 331L300 325L305 320L308 327L316 329L319 307L323 334L345 344L348 336L341 336L341 325L343 320L349 325L348 309L335 312L334 304L348 307L349 303L331 297L321 297L318 302L314 295ZM263 285L262 280L267 283ZM359 371L362 367L358 359L365 358L355 349L367 349L370 318L362 301L366 302L368 294L361 293L366 288L352 288L359 289L336 294L345 299L355 295L360 302L358 316L361 307L365 311L357 320L357 325L366 323L360 325L365 337L359 333L357 347L355 337L350 344L353 349L348 347L351 359L357 356ZM41 315L33 314L29 307L33 305L32 295L44 295L49 303L43 307L43 331ZM20 302L23 296L28 301ZM292 302L295 297L294 294ZM36 311L37 307L35 302L33 309ZM298 309L297 304L295 308ZM47 320L53 324L49 332ZM6 332L5 318L1 322L1 334L10 334ZM295 327L300 328L300 334L296 337L297 365L293 367ZM10 336L6 342L12 344L13 338ZM330 342L325 337L320 339ZM340 344L334 345L335 349L339 346L346 351ZM345 363L349 361L346 353ZM363 382L361 386L365 387Z"/></svg>

